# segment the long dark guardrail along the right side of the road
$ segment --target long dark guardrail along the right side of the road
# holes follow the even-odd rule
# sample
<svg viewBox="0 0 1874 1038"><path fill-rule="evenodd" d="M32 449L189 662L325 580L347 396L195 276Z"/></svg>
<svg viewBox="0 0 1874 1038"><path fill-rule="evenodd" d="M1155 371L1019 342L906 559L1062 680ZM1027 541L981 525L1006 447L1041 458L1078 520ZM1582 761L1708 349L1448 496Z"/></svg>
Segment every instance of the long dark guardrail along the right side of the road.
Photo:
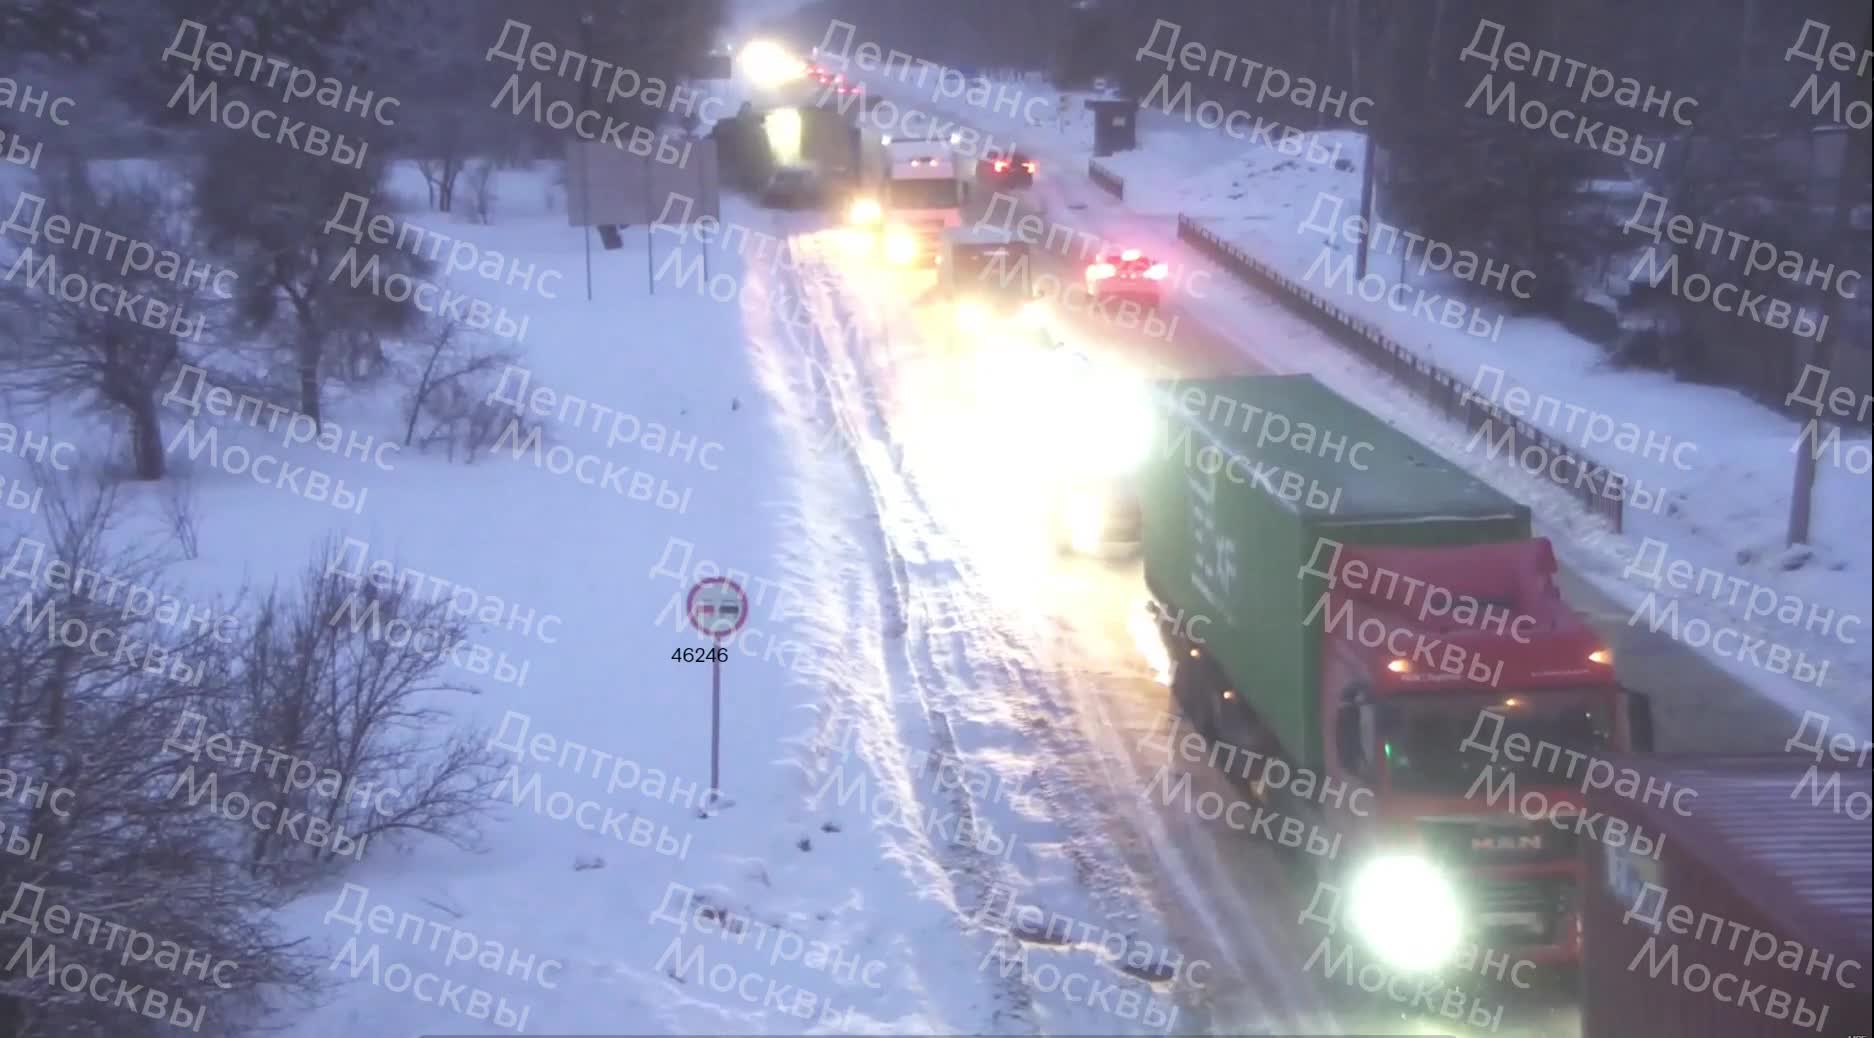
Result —
<svg viewBox="0 0 1874 1038"><path fill-rule="evenodd" d="M1106 171L1100 172L1111 176ZM1106 185L1102 184L1102 187ZM1113 191L1113 187L1108 189ZM1124 182L1121 182L1119 189L1124 189ZM1525 472L1533 472L1535 467L1525 465L1520 459L1524 459L1524 452L1531 448L1537 450L1540 455L1540 474L1548 482L1569 491L1587 508L1589 513L1608 519L1614 523L1615 530L1621 530L1627 476L1576 453L1572 448L1561 444L1524 418L1509 414L1497 405L1471 393L1471 386L1464 384L1464 380L1456 378L1450 371L1445 371L1443 367L1428 362L1424 356L1406 348L1370 320L1349 313L1340 304L1334 304L1287 274L1282 274L1244 249L1226 242L1201 223L1186 215L1179 215L1177 236L1224 270L1237 275L1237 279L1272 290L1289 302L1306 304L1306 307L1297 309L1327 332L1334 334L1338 341L1359 352L1362 360L1417 393L1422 401L1430 403L1445 416L1462 422L1467 431L1480 431L1492 444L1497 442L1497 437L1503 437L1505 431L1509 431L1505 448L1510 463Z"/></svg>

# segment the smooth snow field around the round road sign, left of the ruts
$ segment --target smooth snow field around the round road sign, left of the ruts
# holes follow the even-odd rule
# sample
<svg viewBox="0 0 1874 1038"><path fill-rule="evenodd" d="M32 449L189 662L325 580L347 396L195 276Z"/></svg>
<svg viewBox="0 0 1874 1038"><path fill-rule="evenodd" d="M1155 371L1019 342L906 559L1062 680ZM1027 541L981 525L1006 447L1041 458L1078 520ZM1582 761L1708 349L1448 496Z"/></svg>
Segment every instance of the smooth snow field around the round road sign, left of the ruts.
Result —
<svg viewBox="0 0 1874 1038"><path fill-rule="evenodd" d="M862 585L838 577L795 583L778 570L783 545L810 536L819 502L800 497L806 482L795 478L789 442L763 405L738 307L669 281L648 294L643 236L622 251L594 251L596 298L587 304L579 298L579 234L564 227L543 178L504 184L502 193L513 204L495 227L446 230L564 272L553 304L497 298L534 317L525 347L528 392L543 386L577 395L632 414L647 429L662 422L721 446L682 463L639 446L607 450L592 425L558 423L558 442L575 452L693 491L684 515L504 453L472 468L435 463L429 485L397 480L395 489L384 489L382 512L373 508L358 536L399 549L412 568L504 588L564 616L558 645L517 646L534 660L528 686L493 691L478 704L491 729L519 712L530 725L528 744L543 734L553 740L536 748L545 753L513 761L523 781L543 779L547 809L534 809L532 798L497 802L487 854L418 847L405 860L373 862L352 877L371 888L373 903L444 912L452 926L482 939L562 961L555 987L495 980L463 965L450 972L440 956L424 954L427 948L380 935L386 957L395 950L403 961L508 995L510 1004L530 1004L530 1032L976 1027L969 999L935 999L918 980L943 972L948 984L969 986L974 974L965 950L939 939L952 927L944 907L922 894L924 879L881 866L890 860L883 847L890 836L855 806L804 808L811 779L841 766L826 763L823 744L828 671L836 661L868 663L847 658L821 622L860 609ZM673 240L660 240L660 259L673 247ZM500 502L498 510L489 502ZM493 523L463 521L480 515ZM697 819L690 796L678 793L708 787L710 667L669 660L673 648L705 645L682 628L675 605L692 575L708 573L703 560L716 573L735 570L768 583L744 581L759 598L721 667L721 781L733 806L710 819ZM508 734L504 742L521 742ZM594 755L583 766L579 757L562 766L566 753L555 744L583 744ZM613 766L594 766L598 753L632 763L622 781L613 781ZM650 789L656 772L671 776L667 789ZM630 789L635 776L643 779ZM660 838L667 832L686 853L632 845L630 828L626 838L592 832L598 811L564 817L551 802L558 791L630 809L626 826L648 819ZM684 911L690 890L697 901ZM332 896L309 897L300 905L300 926L343 941L349 927L322 922L332 905ZM763 927L772 927L772 941ZM795 957L772 954L783 941L793 942ZM862 980L834 976L826 961L810 969L796 950L802 942L856 957L853 976ZM789 986L780 991L783 1010L765 1002L776 993L770 982ZM789 1016L802 1012L804 1019ZM296 1032L465 1029L474 1029L470 1019L410 993L350 982Z"/></svg>

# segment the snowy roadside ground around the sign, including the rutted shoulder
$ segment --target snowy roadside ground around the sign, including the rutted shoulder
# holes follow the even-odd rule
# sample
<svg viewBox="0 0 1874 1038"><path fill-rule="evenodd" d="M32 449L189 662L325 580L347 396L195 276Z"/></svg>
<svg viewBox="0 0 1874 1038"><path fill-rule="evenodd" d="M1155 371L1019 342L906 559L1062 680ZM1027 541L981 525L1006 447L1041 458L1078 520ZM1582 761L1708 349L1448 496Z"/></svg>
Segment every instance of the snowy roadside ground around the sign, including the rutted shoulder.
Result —
<svg viewBox="0 0 1874 1038"><path fill-rule="evenodd" d="M367 556L557 622L538 637L480 631L525 680L468 678L480 693L444 704L510 768L483 847L379 843L283 909L289 933L332 956L334 986L285 1032L500 1032L497 1019L547 1034L1128 1032L1147 1012L1192 1019L1179 1016L1190 991L1164 976L1168 926L1079 811L1091 759L1036 727L1036 695L1061 691L989 618L943 534L915 521L911 491L879 465L879 429L860 425L879 416L828 395L825 363L808 363L813 320L847 305L845 274L813 287L712 247L705 285L690 266L699 244L658 234L647 260L630 232L620 251L594 247L587 302L551 167L504 174L489 227L425 214L412 171L397 187L414 223L560 272L555 300L472 272L454 281L530 319L525 343L495 345L519 354L502 395L547 423L545 461L409 450L395 472L354 467L369 500L349 515L172 455L201 538L172 575L231 592ZM787 232L729 206L725 223ZM388 401L335 397L330 418L347 427L401 433ZM632 416L637 442L607 442L611 414ZM165 412L165 429L182 418ZM94 433L67 414L7 420ZM650 450L652 423L699 450ZM253 429L221 437L279 453ZM296 450L289 461L330 467ZM667 482L686 512L594 485L581 476L598 463L568 470L581 455ZM126 538L161 536L144 497ZM326 558L324 538L367 547ZM699 817L710 667L671 652L706 646L680 596L720 573L753 601L721 667L731 802ZM485 969L425 922L536 969L504 971L498 952ZM1057 922L1083 926L1064 944L1012 937Z"/></svg>

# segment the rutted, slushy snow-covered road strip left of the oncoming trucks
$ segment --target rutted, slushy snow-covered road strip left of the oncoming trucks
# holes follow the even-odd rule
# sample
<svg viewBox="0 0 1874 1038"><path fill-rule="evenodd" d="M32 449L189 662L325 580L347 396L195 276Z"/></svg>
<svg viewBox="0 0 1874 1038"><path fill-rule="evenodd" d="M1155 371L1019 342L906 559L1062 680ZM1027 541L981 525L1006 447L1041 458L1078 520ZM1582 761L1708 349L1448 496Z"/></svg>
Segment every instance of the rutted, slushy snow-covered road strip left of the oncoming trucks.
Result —
<svg viewBox="0 0 1874 1038"><path fill-rule="evenodd" d="M1051 549L1034 474L1010 450L1021 427L980 399L982 350L950 345L916 302L930 275L853 262L838 232L796 234L795 245L808 257L800 290L819 319L811 341L796 345L826 367L825 403L840 429L830 446L853 459L875 508L866 519L877 528L879 613L888 618L881 641L901 656L890 667L900 706L892 723L928 729L916 738L967 766L1031 774L1038 791L1019 821L974 798L969 808L988 809L991 824L1025 823L1027 847L1001 867L950 851L939 854L946 869L971 892L982 888L984 869L1016 884L1034 922L1061 914L1126 935L1108 944L1109 963L1126 939L1169 944L1184 963L1169 987L1173 1029L1452 1032L1454 1023L1430 1010L1415 1014L1331 980L1321 961L1306 969L1321 933L1301 924L1312 888L1304 856L1190 809L1194 800L1233 804L1246 794L1226 774L1168 751L1169 693L1136 637L1145 603L1138 566ZM1078 334L1108 356L1134 348L1102 339L1098 328ZM1184 781L1188 793L1166 794ZM969 892L959 888L956 903L959 924L982 922ZM1031 969L1046 948L1029 944ZM1087 969L1070 963L1061 963L1063 974ZM993 963L984 971L999 976ZM1031 972L1027 987L1027 1004L1003 987L1016 1006L1010 1016L1046 1032L1145 1023L1089 1012L1098 1006L1048 986L1046 974ZM1465 997L1484 1012L1514 995L1469 987ZM1499 1034L1576 1032L1572 1010L1524 1002L1503 1014Z"/></svg>

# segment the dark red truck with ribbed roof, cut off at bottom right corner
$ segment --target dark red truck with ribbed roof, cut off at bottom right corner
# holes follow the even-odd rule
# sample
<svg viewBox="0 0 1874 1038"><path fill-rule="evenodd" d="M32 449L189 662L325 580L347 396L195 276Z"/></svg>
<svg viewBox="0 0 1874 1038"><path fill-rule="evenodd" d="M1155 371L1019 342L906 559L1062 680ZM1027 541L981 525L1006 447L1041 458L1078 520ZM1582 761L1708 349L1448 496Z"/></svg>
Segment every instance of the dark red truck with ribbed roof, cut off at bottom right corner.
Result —
<svg viewBox="0 0 1874 1038"><path fill-rule="evenodd" d="M1582 1038L1874 1032L1867 757L1614 763L1692 796L1589 794L1657 853L1582 847Z"/></svg>

